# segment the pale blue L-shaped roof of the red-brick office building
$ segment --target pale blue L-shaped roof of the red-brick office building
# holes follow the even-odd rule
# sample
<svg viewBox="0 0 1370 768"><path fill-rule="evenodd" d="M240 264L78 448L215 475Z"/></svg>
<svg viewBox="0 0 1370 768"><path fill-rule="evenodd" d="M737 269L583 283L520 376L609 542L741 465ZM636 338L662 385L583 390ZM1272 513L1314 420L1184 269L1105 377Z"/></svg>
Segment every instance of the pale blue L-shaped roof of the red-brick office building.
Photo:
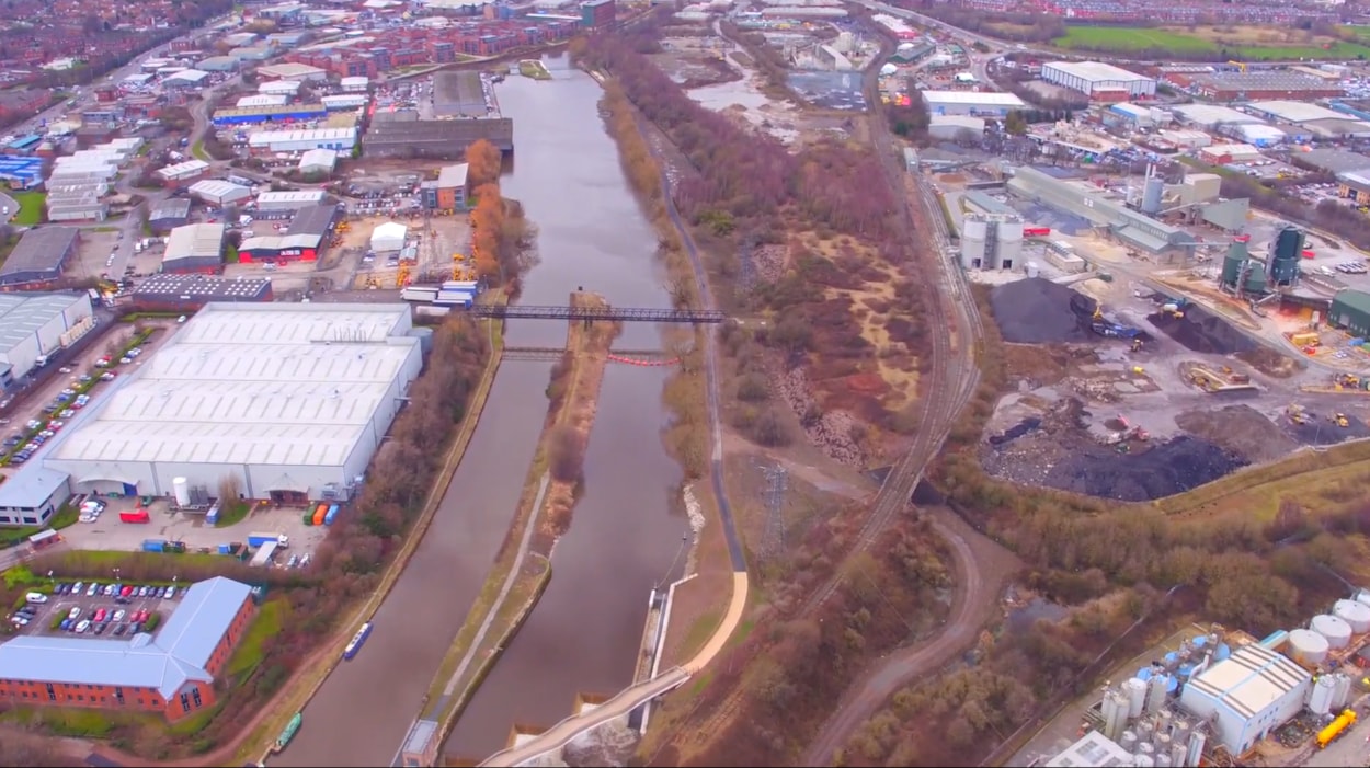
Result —
<svg viewBox="0 0 1370 768"><path fill-rule="evenodd" d="M0 679L156 689L163 700L190 680L212 682L210 656L252 587L215 576L190 585L158 634L129 639L22 635L0 645Z"/></svg>

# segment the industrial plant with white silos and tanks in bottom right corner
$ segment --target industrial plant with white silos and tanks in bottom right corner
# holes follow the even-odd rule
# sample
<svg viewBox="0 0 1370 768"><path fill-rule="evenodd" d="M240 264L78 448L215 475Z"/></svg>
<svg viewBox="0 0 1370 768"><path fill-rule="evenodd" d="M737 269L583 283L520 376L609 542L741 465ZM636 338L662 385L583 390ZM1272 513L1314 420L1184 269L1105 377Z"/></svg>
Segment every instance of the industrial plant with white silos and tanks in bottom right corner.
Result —
<svg viewBox="0 0 1370 768"><path fill-rule="evenodd" d="M1192 626L1069 705L1011 765L1363 765L1370 590L1256 639Z"/></svg>

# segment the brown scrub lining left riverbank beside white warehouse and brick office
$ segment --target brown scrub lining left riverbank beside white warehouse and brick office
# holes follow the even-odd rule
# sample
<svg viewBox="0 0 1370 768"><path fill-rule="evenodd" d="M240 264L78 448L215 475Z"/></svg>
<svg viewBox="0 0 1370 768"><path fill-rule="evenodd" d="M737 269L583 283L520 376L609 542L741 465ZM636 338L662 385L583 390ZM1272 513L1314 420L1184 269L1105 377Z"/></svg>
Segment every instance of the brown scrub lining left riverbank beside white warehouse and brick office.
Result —
<svg viewBox="0 0 1370 768"><path fill-rule="evenodd" d="M489 357L486 331L474 320L451 316L433 335L423 375L410 389L410 402L381 445L360 497L349 505L307 568L249 568L232 557L67 552L41 556L7 574L0 601L14 602L33 585L34 574L56 579L105 579L118 567L134 583L192 583L214 575L267 585L267 602L219 680L212 717L197 727L169 728L160 719L110 720L107 738L141 758L166 760L208 753L229 743L263 709L290 675L337 650L329 639L352 606L375 591L390 556L423 509L445 460L445 446L466 419ZM345 630L345 627L342 628ZM100 711L95 716L103 716Z"/></svg>

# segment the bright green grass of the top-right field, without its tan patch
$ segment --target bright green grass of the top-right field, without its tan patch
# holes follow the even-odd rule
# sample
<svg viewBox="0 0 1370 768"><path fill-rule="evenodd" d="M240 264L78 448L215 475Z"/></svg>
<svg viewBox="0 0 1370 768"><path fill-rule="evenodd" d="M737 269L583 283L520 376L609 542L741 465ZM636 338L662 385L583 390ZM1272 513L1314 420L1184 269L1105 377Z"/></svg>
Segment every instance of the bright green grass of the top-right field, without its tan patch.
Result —
<svg viewBox="0 0 1370 768"><path fill-rule="evenodd" d="M1370 41L1370 27L1356 30ZM1173 51L1175 53L1212 53L1252 62L1284 62L1295 59L1370 59L1370 47L1358 42L1334 41L1321 45L1219 45L1199 36L1164 29L1121 26L1073 26L1052 41L1060 48L1099 52ZM1223 53L1226 51L1226 53Z"/></svg>

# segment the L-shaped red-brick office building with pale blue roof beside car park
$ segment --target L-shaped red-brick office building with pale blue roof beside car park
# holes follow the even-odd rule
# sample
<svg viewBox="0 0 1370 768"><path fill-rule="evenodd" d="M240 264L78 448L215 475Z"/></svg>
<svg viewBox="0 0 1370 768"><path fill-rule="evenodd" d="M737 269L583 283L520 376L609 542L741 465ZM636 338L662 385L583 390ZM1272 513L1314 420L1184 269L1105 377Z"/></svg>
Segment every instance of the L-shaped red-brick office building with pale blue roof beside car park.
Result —
<svg viewBox="0 0 1370 768"><path fill-rule="evenodd" d="M127 639L25 635L0 645L0 697L26 706L162 712L179 720L212 706L252 622L252 587L215 576L175 602L156 634Z"/></svg>

